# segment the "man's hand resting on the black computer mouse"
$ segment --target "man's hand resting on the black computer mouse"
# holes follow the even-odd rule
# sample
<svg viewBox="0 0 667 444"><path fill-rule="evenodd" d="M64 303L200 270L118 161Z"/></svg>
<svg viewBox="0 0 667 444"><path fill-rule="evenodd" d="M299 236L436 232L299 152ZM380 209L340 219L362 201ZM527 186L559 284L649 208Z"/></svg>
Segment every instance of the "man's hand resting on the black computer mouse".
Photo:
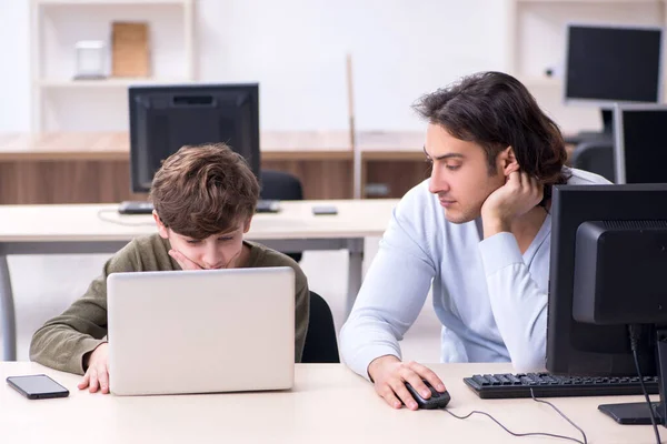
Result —
<svg viewBox="0 0 667 444"><path fill-rule="evenodd" d="M421 396L430 397L430 390L424 384L427 380L438 392L445 392L445 384L432 370L416 362L402 362L394 355L375 359L368 365L368 375L375 383L375 390L390 406L400 408L401 401L410 410L417 410L417 402L406 387L406 382Z"/></svg>

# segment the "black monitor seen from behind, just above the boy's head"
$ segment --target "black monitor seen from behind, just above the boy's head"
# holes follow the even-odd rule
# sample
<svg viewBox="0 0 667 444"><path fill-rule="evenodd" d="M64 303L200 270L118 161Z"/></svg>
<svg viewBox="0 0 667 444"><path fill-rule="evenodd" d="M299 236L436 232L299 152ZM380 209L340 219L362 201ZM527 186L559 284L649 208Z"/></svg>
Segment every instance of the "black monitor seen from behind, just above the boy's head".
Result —
<svg viewBox="0 0 667 444"><path fill-rule="evenodd" d="M259 85L130 87L131 189L150 191L161 162L182 145L225 142L259 179Z"/></svg>

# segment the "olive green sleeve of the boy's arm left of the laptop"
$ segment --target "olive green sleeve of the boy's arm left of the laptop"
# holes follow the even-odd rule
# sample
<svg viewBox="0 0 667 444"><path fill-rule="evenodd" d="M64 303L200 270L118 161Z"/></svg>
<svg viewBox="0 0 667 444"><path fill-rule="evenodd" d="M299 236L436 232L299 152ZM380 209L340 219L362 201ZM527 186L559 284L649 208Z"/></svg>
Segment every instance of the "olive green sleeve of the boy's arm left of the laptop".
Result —
<svg viewBox="0 0 667 444"><path fill-rule="evenodd" d="M131 242L104 264L83 296L62 314L47 321L32 336L30 360L46 366L83 374L83 355L106 342L107 278L137 270L137 250Z"/></svg>

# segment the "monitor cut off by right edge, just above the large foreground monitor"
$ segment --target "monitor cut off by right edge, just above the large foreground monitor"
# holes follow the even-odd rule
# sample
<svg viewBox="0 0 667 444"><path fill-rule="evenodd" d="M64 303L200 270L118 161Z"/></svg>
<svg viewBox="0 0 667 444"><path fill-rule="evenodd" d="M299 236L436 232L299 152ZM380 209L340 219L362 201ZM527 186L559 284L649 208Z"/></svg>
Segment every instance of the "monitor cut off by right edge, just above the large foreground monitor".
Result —
<svg viewBox="0 0 667 444"><path fill-rule="evenodd" d="M667 105L614 108L617 183L667 183Z"/></svg>

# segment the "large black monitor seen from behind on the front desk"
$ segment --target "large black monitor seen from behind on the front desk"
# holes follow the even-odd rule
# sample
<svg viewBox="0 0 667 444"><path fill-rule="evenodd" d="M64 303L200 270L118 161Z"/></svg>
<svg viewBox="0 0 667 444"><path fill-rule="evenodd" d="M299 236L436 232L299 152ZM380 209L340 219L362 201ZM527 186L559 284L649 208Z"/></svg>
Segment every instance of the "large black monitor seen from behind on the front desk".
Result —
<svg viewBox="0 0 667 444"><path fill-rule="evenodd" d="M637 375L628 324L639 324L639 366L657 375L656 331L667 324L667 184L557 185L551 218L547 370Z"/></svg>

